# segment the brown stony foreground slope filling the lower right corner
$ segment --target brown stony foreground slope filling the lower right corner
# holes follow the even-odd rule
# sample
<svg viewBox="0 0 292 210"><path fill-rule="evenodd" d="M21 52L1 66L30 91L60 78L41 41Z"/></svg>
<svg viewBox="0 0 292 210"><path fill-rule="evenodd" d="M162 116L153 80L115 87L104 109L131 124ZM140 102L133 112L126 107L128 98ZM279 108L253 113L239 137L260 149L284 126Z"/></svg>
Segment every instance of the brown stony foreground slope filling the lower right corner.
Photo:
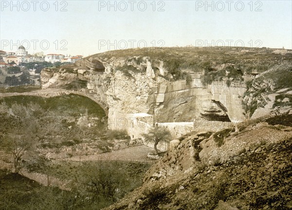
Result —
<svg viewBox="0 0 292 210"><path fill-rule="evenodd" d="M105 210L289 210L291 125L284 115L190 133L148 170L142 187Z"/></svg>

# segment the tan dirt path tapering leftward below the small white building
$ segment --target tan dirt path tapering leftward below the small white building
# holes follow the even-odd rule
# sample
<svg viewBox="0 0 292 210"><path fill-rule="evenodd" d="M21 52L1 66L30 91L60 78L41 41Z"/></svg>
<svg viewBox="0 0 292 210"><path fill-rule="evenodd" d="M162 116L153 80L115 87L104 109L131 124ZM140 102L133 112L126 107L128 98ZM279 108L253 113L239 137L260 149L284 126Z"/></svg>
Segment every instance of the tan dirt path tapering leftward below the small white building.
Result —
<svg viewBox="0 0 292 210"><path fill-rule="evenodd" d="M103 153L89 156L75 156L69 157L65 160L69 161L137 161L137 162L153 162L147 157L148 153L153 153L153 149L145 145L128 147L126 149L112 151L110 153Z"/></svg>

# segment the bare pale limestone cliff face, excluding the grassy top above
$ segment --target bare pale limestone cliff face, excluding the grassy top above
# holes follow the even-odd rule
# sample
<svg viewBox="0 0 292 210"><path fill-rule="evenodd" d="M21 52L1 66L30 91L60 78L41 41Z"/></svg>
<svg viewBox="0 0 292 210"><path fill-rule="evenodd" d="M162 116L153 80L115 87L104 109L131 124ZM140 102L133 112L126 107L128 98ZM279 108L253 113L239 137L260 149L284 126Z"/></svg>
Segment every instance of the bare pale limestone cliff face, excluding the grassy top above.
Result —
<svg viewBox="0 0 292 210"><path fill-rule="evenodd" d="M217 130L208 125L206 128L202 119L233 123L244 119L241 98L246 88L243 83L232 81L227 87L223 80L204 86L201 74L191 71L190 83L170 82L164 79L166 73L163 60L96 55L74 65L44 69L41 82L42 88L73 89L94 97L108 109L111 129L133 128L135 122L131 116L135 113L152 115L152 121L154 118L158 123L200 122L200 130ZM147 122L139 119L138 123L140 120L148 126L151 124L149 119ZM138 133L146 129L147 126ZM131 138L138 137L137 134Z"/></svg>

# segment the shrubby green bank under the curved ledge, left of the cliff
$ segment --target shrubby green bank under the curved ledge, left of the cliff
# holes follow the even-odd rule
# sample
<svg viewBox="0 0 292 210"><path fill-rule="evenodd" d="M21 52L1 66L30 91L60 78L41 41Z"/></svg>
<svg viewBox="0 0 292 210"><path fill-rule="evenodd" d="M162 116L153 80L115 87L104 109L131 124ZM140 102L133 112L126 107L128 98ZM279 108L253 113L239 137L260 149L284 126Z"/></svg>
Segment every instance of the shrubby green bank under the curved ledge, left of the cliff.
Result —
<svg viewBox="0 0 292 210"><path fill-rule="evenodd" d="M104 110L89 98L64 95L52 98L12 96L0 99L0 140L10 134L31 132L41 148L60 148L78 144L83 138L104 135ZM77 125L80 113L86 113L91 127ZM18 137L16 137L18 138Z"/></svg>

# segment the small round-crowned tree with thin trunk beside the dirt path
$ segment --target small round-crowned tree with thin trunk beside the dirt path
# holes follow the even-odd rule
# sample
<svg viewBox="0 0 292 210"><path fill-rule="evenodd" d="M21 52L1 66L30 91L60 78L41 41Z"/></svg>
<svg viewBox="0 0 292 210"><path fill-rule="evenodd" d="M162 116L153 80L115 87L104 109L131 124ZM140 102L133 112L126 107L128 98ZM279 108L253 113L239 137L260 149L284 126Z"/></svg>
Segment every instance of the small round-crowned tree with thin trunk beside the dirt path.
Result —
<svg viewBox="0 0 292 210"><path fill-rule="evenodd" d="M148 131L148 133L145 133L142 135L144 137L144 140L146 142L154 142L154 150L155 150L155 155L158 155L158 150L157 150L157 144L161 140L171 140L171 134L169 130L165 127L152 127Z"/></svg>

